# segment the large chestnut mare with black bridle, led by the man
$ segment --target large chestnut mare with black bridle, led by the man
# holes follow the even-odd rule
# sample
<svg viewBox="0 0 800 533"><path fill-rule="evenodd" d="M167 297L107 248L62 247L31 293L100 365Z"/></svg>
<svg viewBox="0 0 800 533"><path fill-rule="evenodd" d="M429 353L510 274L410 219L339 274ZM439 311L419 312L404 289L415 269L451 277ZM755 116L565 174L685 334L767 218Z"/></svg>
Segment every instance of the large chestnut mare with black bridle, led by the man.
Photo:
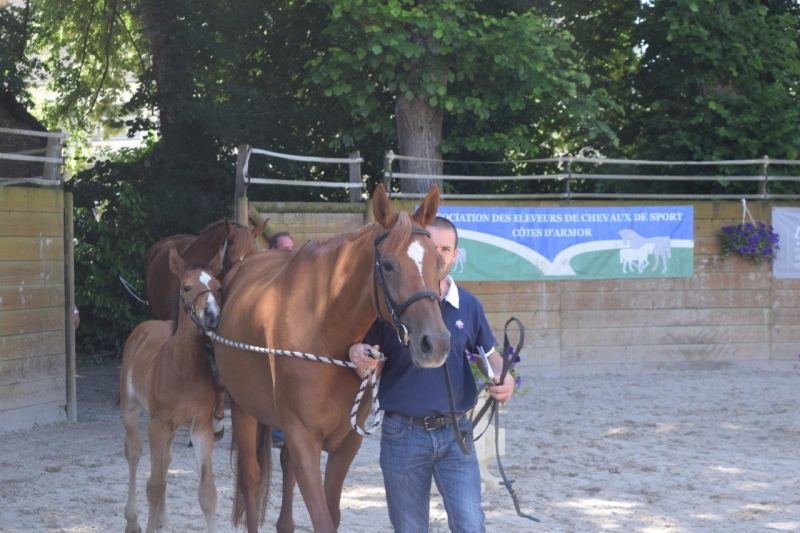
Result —
<svg viewBox="0 0 800 533"><path fill-rule="evenodd" d="M225 278L225 307L217 334L247 345L348 359L380 314L396 317L414 363L444 363L450 334L439 309L442 258L424 227L436 216L434 188L413 217L395 215L379 185L375 223L295 253L265 251L248 257ZM398 303L399 302L399 303ZM391 309L390 309L391 307ZM335 531L347 471L362 437L349 413L360 380L348 368L215 345L231 401L238 452L233 523L263 523L269 489L270 428L283 430L314 531ZM370 402L362 402L363 423ZM321 452L328 453L323 484ZM292 530L282 512L280 531Z"/></svg>

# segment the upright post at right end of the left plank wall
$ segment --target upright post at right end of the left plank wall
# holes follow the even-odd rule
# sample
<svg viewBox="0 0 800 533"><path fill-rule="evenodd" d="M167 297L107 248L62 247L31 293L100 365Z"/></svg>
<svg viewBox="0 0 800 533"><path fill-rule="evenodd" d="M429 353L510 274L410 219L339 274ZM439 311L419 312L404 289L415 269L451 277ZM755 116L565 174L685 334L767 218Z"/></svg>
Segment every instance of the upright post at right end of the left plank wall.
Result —
<svg viewBox="0 0 800 533"><path fill-rule="evenodd" d="M72 193L64 193L64 337L67 357L67 420L78 421L75 365L75 248Z"/></svg>

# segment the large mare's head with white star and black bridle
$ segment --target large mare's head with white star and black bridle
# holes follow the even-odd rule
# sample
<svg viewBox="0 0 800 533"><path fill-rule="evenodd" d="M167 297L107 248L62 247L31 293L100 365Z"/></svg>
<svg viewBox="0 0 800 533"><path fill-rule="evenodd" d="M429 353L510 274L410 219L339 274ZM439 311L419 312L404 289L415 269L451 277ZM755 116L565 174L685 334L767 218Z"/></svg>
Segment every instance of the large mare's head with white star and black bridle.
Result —
<svg viewBox="0 0 800 533"><path fill-rule="evenodd" d="M373 195L372 214L382 227L375 239L373 281L378 314L397 327L412 361L421 368L441 366L450 351L450 332L439 304L442 257L425 230L438 208L437 187L412 217L392 212L383 185Z"/></svg>

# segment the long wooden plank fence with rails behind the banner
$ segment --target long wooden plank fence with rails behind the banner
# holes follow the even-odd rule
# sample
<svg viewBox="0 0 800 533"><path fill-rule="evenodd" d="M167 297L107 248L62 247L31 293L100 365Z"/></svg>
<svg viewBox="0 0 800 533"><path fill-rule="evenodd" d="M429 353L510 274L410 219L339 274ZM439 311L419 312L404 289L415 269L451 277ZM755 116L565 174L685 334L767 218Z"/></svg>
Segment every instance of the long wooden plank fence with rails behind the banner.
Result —
<svg viewBox="0 0 800 533"><path fill-rule="evenodd" d="M246 149L249 150L249 149ZM246 161L240 149L237 192L243 191ZM249 154L247 154L249 158ZM297 156L290 156L297 157ZM692 205L694 208L694 275L691 278L469 282L463 285L483 302L492 328L510 316L527 328L522 368L539 375L641 372L732 366L800 369L800 280L776 279L771 265L754 266L740 258L723 260L717 232L741 222L737 195L580 195L570 192L572 179L643 179L660 181L718 180L753 182L757 192L745 197L758 220L771 222L772 206L800 206L796 194L769 191L771 181L798 181L798 176L771 176L770 166L796 167L800 161L743 160L709 162L626 161L591 158L537 160L564 164L564 173L546 176L417 176L393 172L392 161L413 159L387 153L384 182L392 179L558 179L563 192L548 195L443 195L451 205L524 207ZM244 162L244 165L241 163ZM345 162L338 160L337 162ZM572 162L616 165L758 165L757 175L660 176L572 174ZM354 182L351 173L351 182ZM306 184L310 185L310 184ZM243 195L241 195L243 196ZM393 193L395 210L411 211L421 194ZM614 199L605 198L612 196ZM295 241L326 239L371 221L370 201L359 204L262 202L240 209L251 222L270 217L275 231L289 231ZM242 217L245 221L246 216ZM457 277L456 277L457 279Z"/></svg>

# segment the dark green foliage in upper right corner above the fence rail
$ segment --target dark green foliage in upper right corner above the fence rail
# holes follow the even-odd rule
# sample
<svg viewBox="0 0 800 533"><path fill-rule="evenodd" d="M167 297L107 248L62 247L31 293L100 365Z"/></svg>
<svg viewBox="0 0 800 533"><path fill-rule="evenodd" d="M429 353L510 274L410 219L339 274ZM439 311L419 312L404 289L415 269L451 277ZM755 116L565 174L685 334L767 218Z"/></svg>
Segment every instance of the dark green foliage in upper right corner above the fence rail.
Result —
<svg viewBox="0 0 800 533"><path fill-rule="evenodd" d="M796 2L660 0L622 134L630 153L673 160L795 159L800 146Z"/></svg>

